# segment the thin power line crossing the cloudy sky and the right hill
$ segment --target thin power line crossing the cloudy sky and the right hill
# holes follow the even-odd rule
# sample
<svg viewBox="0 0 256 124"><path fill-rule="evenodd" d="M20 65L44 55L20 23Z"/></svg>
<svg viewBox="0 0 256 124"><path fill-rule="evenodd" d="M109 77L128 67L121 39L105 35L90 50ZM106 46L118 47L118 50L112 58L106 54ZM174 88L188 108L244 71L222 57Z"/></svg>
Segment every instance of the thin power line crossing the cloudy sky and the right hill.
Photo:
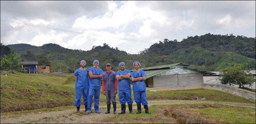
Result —
<svg viewBox="0 0 256 124"><path fill-rule="evenodd" d="M27 26L34 26L34 27L39 27L39 28L46 28L46 29L52 29L52 30L66 31L66 32L77 33L77 34L84 34L83 32L78 32L78 31L64 30L64 29L52 28L52 27L46 27L46 26L40 26L40 25L32 25L32 24L26 24L26 23L21 23L21 22L14 22L14 21L7 21L7 20L1 20L1 21L8 22L8 23L22 24L22 25L27 25ZM90 34L90 33L85 33L85 34L88 34L88 35L91 35L91 36L103 37L103 35L99 35L99 34ZM116 37L112 37L112 38L126 40L126 41L131 41L131 42L141 42L141 43L150 43L150 44L155 43L155 42L135 40L135 39L116 38ZM188 47L188 48L191 48L191 47L192 48L201 48L201 47L181 46L181 45L172 45L172 46ZM250 53L250 52L232 51L232 50L221 50L221 49L213 49L213 48L201 48L201 49L217 50L217 51L230 51L230 52L238 52L238 53ZM253 53L253 54L255 54L255 53Z"/></svg>

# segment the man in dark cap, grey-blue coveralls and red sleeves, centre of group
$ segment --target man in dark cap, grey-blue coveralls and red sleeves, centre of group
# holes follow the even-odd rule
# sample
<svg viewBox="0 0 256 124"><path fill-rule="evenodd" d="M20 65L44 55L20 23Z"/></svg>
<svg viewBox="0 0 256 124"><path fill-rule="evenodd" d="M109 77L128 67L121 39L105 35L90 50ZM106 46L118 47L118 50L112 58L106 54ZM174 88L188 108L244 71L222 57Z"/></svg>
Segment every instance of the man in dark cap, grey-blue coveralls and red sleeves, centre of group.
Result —
<svg viewBox="0 0 256 124"><path fill-rule="evenodd" d="M102 92L106 95L107 112L110 113L110 100L112 101L114 114L116 114L116 94L117 94L117 80L116 72L111 71L111 64L106 64L107 71L102 75Z"/></svg>

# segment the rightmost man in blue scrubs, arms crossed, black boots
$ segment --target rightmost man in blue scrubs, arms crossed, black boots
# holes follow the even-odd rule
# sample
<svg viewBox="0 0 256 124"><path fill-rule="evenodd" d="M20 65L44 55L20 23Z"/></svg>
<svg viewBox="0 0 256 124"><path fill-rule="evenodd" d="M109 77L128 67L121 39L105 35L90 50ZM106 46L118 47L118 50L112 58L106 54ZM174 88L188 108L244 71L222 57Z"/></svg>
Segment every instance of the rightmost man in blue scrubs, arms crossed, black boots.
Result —
<svg viewBox="0 0 256 124"><path fill-rule="evenodd" d="M134 100L137 103L138 112L136 114L141 113L141 105L144 106L145 113L150 114L148 110L148 101L146 98L146 86L144 80L146 80L146 73L143 70L140 70L140 62L133 62L133 67L135 67L135 71L131 72L131 80L133 81L133 96Z"/></svg>

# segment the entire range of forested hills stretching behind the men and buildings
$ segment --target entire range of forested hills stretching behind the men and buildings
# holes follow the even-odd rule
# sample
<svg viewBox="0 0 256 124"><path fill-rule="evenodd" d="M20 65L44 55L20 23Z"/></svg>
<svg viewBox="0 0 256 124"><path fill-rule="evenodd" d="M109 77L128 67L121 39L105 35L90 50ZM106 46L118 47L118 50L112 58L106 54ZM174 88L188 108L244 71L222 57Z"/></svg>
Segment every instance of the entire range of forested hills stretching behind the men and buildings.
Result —
<svg viewBox="0 0 256 124"><path fill-rule="evenodd" d="M13 47L15 45L15 47ZM24 44L22 44L24 45ZM255 38L230 35L205 34L188 37L181 42L164 39L138 55L131 55L108 44L94 46L89 51L71 50L58 44L44 44L41 47L29 47L22 51L19 44L7 45L20 54L22 61L38 61L50 64L55 72L73 72L79 67L79 62L85 59L87 67L97 59L100 67L111 63L114 71L118 63L125 62L127 69L133 69L132 63L139 61L142 67L152 67L171 63L184 63L192 68L214 71L226 67L230 62L243 63L248 69L255 69ZM16 49L15 49L16 48ZM17 49L20 48L20 49ZM25 49L25 48L23 48ZM232 52L239 51L239 52Z"/></svg>

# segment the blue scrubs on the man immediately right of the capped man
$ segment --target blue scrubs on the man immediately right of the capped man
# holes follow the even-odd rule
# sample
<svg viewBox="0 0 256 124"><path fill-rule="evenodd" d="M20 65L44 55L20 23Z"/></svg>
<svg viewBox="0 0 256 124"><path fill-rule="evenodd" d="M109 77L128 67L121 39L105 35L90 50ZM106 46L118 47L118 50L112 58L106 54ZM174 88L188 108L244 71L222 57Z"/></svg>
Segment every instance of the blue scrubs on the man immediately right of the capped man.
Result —
<svg viewBox="0 0 256 124"><path fill-rule="evenodd" d="M116 72L116 75L126 75L127 73L131 73L130 70L125 70L122 72L121 70ZM120 104L132 104L133 101L131 99L131 83L130 79L118 80L118 97Z"/></svg>

